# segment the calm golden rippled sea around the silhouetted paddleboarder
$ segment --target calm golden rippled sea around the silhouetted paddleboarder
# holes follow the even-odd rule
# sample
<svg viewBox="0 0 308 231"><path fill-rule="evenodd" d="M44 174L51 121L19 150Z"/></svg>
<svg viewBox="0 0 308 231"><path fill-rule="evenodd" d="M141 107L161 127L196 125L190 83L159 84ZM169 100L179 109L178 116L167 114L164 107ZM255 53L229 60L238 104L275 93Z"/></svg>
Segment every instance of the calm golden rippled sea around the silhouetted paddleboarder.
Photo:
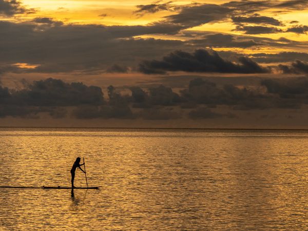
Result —
<svg viewBox="0 0 308 231"><path fill-rule="evenodd" d="M308 131L0 129L1 230L307 230ZM76 171L75 186L85 186Z"/></svg>

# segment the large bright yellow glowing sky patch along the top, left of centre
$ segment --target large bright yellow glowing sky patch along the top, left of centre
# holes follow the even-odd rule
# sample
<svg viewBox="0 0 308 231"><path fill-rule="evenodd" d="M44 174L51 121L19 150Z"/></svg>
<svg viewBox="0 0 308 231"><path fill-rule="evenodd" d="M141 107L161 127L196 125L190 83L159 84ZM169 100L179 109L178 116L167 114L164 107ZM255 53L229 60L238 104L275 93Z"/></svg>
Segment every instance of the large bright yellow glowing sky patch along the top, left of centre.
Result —
<svg viewBox="0 0 308 231"><path fill-rule="evenodd" d="M227 1L199 1L198 3L221 4ZM134 14L137 5L152 4L153 1L84 1L84 0L24 0L23 4L37 9L32 16L48 16L66 23L110 25L146 25L159 21L174 12L161 11L138 16ZM172 5L183 6L190 1L176 1ZM102 16L104 15L104 16ZM28 15L29 16L29 15Z"/></svg>

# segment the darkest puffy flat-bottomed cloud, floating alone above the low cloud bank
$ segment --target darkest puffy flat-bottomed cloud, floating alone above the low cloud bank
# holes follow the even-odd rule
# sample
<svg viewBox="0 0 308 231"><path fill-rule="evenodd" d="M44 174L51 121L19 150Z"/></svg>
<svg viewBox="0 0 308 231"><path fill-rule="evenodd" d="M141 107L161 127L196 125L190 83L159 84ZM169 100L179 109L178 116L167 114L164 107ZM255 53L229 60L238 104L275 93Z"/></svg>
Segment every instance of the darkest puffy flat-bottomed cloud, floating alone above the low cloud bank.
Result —
<svg viewBox="0 0 308 231"><path fill-rule="evenodd" d="M139 71L146 74L162 74L167 71L220 72L220 73L268 73L247 57L240 57L239 64L222 59L216 51L203 49L194 53L175 51L163 57L162 61L143 61Z"/></svg>

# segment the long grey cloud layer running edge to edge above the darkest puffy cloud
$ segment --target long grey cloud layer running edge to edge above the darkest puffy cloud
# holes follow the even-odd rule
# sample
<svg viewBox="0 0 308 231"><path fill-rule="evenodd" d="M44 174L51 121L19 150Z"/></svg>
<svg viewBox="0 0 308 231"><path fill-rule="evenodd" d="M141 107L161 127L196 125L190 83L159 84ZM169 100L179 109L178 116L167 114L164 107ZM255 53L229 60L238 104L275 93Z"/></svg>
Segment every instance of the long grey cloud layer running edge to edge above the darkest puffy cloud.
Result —
<svg viewBox="0 0 308 231"><path fill-rule="evenodd" d="M144 34L174 34L186 28L171 22L146 26L60 25L49 17L35 22L0 21L0 71L14 73L104 73L112 65L132 67L141 60L160 59L174 50L200 47L304 48L304 42L280 38L208 33L188 41L132 38ZM57 25L57 26L55 26ZM188 34L188 32L185 32ZM22 40L20 38L23 38ZM46 41L48 37L48 44ZM181 38L181 37L179 37ZM86 41L86 42L85 42ZM35 68L19 68L26 63ZM110 69L113 71L113 69Z"/></svg>

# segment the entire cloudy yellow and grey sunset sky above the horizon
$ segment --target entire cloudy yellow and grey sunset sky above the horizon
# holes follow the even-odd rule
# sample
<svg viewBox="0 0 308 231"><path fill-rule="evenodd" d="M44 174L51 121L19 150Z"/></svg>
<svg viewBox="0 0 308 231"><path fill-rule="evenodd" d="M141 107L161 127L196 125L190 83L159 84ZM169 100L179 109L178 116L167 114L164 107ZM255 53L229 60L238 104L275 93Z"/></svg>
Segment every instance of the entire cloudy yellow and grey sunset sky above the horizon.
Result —
<svg viewBox="0 0 308 231"><path fill-rule="evenodd" d="M0 126L308 129L308 0L0 0Z"/></svg>

